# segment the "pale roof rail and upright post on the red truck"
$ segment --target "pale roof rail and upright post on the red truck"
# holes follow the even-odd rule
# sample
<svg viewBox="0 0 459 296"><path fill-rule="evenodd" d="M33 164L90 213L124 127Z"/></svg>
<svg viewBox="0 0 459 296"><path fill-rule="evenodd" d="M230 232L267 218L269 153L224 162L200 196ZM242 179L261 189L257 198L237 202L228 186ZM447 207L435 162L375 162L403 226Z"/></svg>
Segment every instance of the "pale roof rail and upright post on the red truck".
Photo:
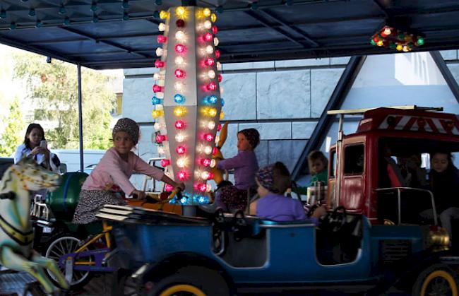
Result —
<svg viewBox="0 0 459 296"><path fill-rule="evenodd" d="M340 196L340 165L341 165L341 155L342 155L342 138L344 137L344 132L342 131L342 122L344 122L345 115L363 115L366 111L376 109L379 107L373 108L361 108L361 109L342 109L342 110L330 110L327 112L328 115L340 115L340 121L338 122L338 139L336 141L336 165L335 165L335 201L339 200ZM421 107L417 105L403 105L403 106L389 106L386 108L393 109L410 109L410 110L420 110L420 111L429 111L429 112L442 112L443 107ZM338 203L335 203L335 207L340 206Z"/></svg>

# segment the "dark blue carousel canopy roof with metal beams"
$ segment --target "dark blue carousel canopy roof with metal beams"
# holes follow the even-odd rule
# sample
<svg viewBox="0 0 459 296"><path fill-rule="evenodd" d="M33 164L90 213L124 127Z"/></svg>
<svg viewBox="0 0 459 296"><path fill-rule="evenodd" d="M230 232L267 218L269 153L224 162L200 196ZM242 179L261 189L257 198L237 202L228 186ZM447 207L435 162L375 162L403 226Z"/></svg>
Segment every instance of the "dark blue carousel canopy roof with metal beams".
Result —
<svg viewBox="0 0 459 296"><path fill-rule="evenodd" d="M158 12L181 4L177 0L1 0L0 42L93 69L150 67L161 33ZM370 44L384 25L424 37L424 45L413 51L459 48L456 0L202 0L196 4L217 14L222 62L397 52L388 44Z"/></svg>

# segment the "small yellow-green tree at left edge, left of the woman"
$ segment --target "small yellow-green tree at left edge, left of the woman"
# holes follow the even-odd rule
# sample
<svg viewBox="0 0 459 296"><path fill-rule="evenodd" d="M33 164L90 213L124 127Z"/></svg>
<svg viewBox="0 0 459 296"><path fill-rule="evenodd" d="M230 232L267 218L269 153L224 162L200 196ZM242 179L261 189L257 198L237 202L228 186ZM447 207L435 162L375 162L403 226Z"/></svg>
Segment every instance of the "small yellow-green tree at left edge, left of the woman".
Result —
<svg viewBox="0 0 459 296"><path fill-rule="evenodd" d="M5 130L1 136L0 155L9 157L14 153L16 147L24 141L24 135L21 134L24 129L23 114L20 112L17 97L11 102L8 116L2 121L5 124Z"/></svg>

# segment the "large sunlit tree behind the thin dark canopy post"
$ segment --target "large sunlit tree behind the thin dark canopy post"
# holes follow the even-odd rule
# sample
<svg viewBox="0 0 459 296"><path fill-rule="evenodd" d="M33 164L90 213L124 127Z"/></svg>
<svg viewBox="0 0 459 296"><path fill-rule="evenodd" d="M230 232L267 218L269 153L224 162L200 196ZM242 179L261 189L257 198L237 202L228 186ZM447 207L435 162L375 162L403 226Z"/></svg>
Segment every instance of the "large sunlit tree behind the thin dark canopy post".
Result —
<svg viewBox="0 0 459 296"><path fill-rule="evenodd" d="M34 120L53 122L55 128L46 132L53 148L78 148L78 89L76 66L53 60L46 63L37 54L20 53L14 57L16 78L28 85L28 97L33 104ZM83 147L107 149L110 146L115 94L107 85L113 78L82 69Z"/></svg>

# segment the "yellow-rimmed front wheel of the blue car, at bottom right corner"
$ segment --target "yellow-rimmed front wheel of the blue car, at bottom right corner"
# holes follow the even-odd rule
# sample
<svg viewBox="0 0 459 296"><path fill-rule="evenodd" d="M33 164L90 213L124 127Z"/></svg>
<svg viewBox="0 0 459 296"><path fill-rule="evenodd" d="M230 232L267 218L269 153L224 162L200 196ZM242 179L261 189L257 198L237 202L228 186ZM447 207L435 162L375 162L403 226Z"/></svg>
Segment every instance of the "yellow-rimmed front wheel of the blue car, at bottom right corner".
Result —
<svg viewBox="0 0 459 296"><path fill-rule="evenodd" d="M443 264L429 266L417 277L412 295L458 296L458 277L451 268Z"/></svg>

